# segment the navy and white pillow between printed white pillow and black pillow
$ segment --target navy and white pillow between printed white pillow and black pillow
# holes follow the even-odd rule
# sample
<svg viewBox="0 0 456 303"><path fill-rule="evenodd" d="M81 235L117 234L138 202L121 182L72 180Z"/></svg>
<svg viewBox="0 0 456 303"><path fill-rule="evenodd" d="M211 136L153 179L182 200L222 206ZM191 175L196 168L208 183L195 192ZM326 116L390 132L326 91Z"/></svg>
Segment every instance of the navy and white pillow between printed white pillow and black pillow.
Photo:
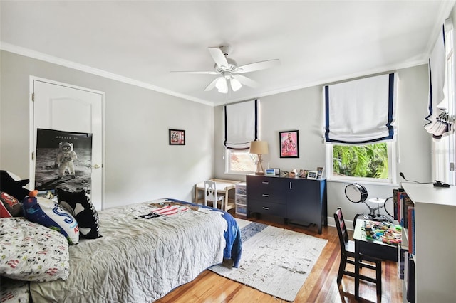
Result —
<svg viewBox="0 0 456 303"><path fill-rule="evenodd" d="M56 202L43 197L27 197L22 201L24 216L66 237L70 245L78 244L78 221Z"/></svg>

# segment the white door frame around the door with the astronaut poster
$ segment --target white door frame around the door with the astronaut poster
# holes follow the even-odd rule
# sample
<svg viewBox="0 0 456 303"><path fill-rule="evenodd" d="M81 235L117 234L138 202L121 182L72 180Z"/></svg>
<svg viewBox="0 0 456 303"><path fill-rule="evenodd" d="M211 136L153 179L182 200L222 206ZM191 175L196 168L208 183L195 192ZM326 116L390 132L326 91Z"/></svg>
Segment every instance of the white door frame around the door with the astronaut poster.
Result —
<svg viewBox="0 0 456 303"><path fill-rule="evenodd" d="M35 122L33 121L33 112L34 112L34 105L33 105L33 82L34 81L41 81L41 82L46 82L46 83L50 83L50 84L53 84L53 85L61 85L61 86L65 86L65 87L69 87L69 88L73 88L73 89L76 89L76 90L84 90L86 92L93 92L93 93L96 93L96 94L99 94L101 95L101 157L102 157L102 160L101 160L101 169L102 169L102 174L101 174L101 208L102 209L105 209L105 206L106 206L106 203L105 203L105 155L106 155L106 152L105 152L105 92L102 92L100 90L92 90L90 88L87 88L87 87L81 87L81 86L77 86L77 85L71 85L71 84L68 84L68 83L62 83L62 82L59 82L59 81L55 81L55 80L49 80L49 79L46 79L46 78L41 78L41 77L36 77L34 75L30 75L29 76L29 94L28 94L28 121L30 121L30 125L29 125L29 131L28 131L28 150L30 151L29 152L29 155L30 155L30 158L29 158L29 165L28 165L28 179L30 179L30 183L29 183L29 186L31 186L31 184L34 184L35 182L35 176L33 175L33 161L34 161L34 157L36 156L35 155L35 151L33 150L33 136L35 135L34 134L34 131L33 131L33 127L35 125ZM30 188L31 190L33 188Z"/></svg>

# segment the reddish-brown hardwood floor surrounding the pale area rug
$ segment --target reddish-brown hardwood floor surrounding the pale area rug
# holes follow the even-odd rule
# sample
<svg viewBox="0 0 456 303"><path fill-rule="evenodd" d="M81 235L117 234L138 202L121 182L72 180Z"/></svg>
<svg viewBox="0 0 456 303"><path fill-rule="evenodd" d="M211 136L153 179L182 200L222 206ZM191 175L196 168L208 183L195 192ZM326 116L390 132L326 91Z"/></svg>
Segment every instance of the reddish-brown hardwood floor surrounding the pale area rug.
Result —
<svg viewBox="0 0 456 303"><path fill-rule="evenodd" d="M397 275L397 263L384 261L382 264L382 296L377 297L375 285L370 282L360 282L360 300L356 300L354 279L344 276L341 286L337 286L336 277L340 261L341 248L338 243L336 228L324 227L323 233L318 235L316 226L309 228L284 225L270 220L249 218L264 224L274 225L279 228L294 230L298 233L306 233L318 238L328 240L321 256L304 285L299 290L294 302L402 302L402 283ZM352 235L351 235L352 236ZM350 266L350 265L348 265ZM349 268L349 267L348 267ZM352 269L353 270L353 267ZM371 273L362 270L364 275ZM177 287L167 294L159 303L168 302L286 302L272 297L269 294L259 292L257 289L247 287L238 282L221 277L214 272L204 270L195 280Z"/></svg>

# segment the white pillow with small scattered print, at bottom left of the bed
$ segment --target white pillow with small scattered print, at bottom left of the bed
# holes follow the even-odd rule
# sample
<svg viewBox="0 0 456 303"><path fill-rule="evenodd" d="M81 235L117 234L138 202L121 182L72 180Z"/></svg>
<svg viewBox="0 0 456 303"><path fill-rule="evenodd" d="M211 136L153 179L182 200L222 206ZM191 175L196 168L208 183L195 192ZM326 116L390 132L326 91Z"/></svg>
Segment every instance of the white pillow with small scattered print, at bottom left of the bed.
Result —
<svg viewBox="0 0 456 303"><path fill-rule="evenodd" d="M68 241L26 218L0 218L0 275L46 282L69 275Z"/></svg>

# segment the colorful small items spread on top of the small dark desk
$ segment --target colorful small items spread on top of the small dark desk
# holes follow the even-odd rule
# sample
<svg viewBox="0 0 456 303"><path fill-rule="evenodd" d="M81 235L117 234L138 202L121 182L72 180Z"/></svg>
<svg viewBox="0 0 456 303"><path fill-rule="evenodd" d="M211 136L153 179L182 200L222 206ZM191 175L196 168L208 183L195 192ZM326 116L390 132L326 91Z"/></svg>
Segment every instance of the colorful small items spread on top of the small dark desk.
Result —
<svg viewBox="0 0 456 303"><path fill-rule="evenodd" d="M383 243L398 245L402 243L402 228L388 222L364 221L366 238L381 240Z"/></svg>

